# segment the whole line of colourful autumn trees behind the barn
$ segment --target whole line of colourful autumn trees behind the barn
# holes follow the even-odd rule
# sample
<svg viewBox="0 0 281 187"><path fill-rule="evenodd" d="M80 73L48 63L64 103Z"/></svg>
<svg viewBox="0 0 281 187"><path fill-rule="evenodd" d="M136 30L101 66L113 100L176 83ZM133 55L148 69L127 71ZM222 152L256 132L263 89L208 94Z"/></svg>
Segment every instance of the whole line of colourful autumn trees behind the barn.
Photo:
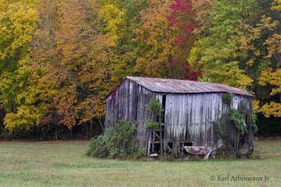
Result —
<svg viewBox="0 0 281 187"><path fill-rule="evenodd" d="M280 11L279 0L0 0L0 137L102 132L126 76L242 88L260 133L280 134Z"/></svg>

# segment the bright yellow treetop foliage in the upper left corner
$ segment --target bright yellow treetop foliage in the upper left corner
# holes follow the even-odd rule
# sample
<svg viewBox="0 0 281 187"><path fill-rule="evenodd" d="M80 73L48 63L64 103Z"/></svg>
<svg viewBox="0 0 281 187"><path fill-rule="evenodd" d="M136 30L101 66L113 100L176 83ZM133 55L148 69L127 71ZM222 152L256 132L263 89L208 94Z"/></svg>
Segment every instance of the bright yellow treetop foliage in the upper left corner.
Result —
<svg viewBox="0 0 281 187"><path fill-rule="evenodd" d="M8 56L18 57L19 50L26 49L32 41L32 33L39 22L39 13L30 6L18 2L7 8L6 12L0 13L0 60Z"/></svg>

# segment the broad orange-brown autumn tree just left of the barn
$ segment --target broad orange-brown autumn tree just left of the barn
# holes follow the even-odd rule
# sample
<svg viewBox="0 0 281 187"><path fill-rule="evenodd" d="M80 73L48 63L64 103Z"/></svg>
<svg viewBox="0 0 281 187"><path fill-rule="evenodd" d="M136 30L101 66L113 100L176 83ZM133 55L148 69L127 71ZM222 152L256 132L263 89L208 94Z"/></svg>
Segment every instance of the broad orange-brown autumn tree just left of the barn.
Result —
<svg viewBox="0 0 281 187"><path fill-rule="evenodd" d="M48 4L42 5L42 11L51 16L42 18L36 39L41 50L35 48L34 56L37 66L46 68L42 79L58 83L53 106L61 116L60 123L71 128L93 118L100 121L105 115L105 97L115 83L110 81L115 66L115 37L105 34L100 26L103 13L96 2Z"/></svg>

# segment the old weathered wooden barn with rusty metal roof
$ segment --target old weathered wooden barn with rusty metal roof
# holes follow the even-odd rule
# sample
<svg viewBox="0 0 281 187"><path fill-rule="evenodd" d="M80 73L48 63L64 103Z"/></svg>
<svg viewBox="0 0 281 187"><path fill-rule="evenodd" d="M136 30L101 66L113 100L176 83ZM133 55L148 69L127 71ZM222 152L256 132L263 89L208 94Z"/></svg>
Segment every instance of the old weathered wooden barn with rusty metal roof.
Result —
<svg viewBox="0 0 281 187"><path fill-rule="evenodd" d="M232 93L230 103L223 102L223 94ZM159 150L159 132L145 130L143 125L152 118L148 102L156 98L162 109L162 144L164 151L179 150L183 146L214 146L214 123L223 119L223 134L228 136L233 148L251 148L253 139L251 102L252 95L228 85L161 78L127 77L106 100L105 127L120 120L137 124L138 146L147 153ZM242 135L228 120L230 108L243 113L247 134ZM153 120L153 119L152 119ZM152 145L151 134L156 140Z"/></svg>

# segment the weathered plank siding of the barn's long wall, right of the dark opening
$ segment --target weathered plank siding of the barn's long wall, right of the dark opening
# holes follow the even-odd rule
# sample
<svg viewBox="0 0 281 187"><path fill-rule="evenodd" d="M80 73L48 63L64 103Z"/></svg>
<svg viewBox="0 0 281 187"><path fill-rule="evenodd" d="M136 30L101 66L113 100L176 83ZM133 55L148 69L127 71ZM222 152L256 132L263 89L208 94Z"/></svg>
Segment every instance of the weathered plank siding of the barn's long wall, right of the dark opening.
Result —
<svg viewBox="0 0 281 187"><path fill-rule="evenodd" d="M228 120L230 108L247 114L248 136L251 144L251 97L235 95L230 106L225 104L221 93L167 94L164 122L164 148L168 142L174 145L192 142L192 146L214 146L216 137L214 122L223 118L223 133L228 134L235 147L238 146L239 132Z"/></svg>

